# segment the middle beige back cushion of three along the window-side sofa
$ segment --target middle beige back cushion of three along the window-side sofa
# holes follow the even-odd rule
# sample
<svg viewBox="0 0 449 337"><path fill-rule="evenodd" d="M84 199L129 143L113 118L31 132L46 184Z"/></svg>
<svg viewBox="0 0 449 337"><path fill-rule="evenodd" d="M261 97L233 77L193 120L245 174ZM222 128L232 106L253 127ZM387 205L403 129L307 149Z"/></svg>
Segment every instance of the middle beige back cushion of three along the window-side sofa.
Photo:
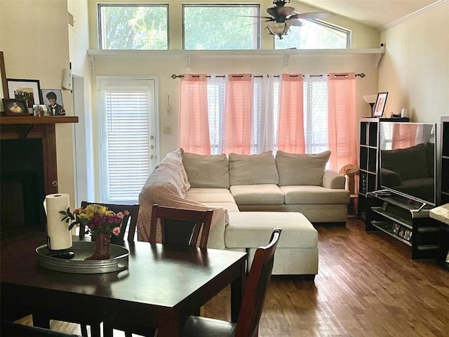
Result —
<svg viewBox="0 0 449 337"><path fill-rule="evenodd" d="M279 176L272 151L261 154L229 154L231 185L278 184Z"/></svg>

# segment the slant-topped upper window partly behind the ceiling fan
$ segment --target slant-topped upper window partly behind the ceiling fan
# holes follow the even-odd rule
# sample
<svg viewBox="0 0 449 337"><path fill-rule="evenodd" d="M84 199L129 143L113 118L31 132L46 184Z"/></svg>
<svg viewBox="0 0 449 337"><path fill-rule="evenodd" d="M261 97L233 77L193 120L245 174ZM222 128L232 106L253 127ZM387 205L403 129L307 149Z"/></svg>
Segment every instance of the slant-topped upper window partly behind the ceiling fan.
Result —
<svg viewBox="0 0 449 337"><path fill-rule="evenodd" d="M275 49L346 49L351 46L351 32L318 20L302 19L302 26L290 26L282 39L275 38Z"/></svg>

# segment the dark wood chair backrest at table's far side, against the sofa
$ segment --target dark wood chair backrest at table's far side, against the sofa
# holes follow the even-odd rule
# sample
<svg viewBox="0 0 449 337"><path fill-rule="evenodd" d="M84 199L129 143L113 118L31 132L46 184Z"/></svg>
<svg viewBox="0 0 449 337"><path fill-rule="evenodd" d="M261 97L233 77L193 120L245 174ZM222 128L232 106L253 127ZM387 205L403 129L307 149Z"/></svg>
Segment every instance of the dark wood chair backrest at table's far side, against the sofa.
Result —
<svg viewBox="0 0 449 337"><path fill-rule="evenodd" d="M156 243L158 219L161 224L161 242L177 246L206 248L209 238L213 210L177 209L175 207L153 205L149 227L149 242ZM201 234L201 238L199 238Z"/></svg>

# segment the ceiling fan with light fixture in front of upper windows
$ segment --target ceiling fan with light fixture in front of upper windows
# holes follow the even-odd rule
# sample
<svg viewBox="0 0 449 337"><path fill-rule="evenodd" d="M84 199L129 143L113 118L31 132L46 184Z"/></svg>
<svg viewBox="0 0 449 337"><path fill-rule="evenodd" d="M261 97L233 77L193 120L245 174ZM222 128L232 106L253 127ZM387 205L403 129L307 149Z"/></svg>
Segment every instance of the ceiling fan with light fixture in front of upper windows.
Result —
<svg viewBox="0 0 449 337"><path fill-rule="evenodd" d="M266 19L264 22L269 22L265 30L279 39L288 33L291 26L302 26L300 19L322 19L330 15L326 12L295 13L295 8L286 6L289 2L290 0L274 0L274 7L267 8L267 13L272 16L260 17Z"/></svg>

